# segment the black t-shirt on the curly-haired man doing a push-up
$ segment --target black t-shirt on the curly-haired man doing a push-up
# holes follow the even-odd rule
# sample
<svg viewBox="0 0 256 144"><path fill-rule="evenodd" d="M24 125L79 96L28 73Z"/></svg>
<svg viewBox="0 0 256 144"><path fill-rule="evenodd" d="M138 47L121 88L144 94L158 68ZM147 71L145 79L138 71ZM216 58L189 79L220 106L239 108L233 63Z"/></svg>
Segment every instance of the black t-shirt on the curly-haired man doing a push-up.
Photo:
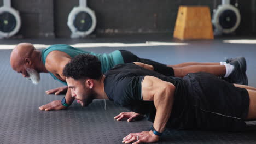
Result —
<svg viewBox="0 0 256 144"><path fill-rule="evenodd" d="M105 73L104 89L109 100L133 112L145 114L149 121L154 122L156 114L154 101L144 101L142 98L141 84L146 75L158 77L176 86L170 118L173 121L168 122L176 124L177 118L181 117L184 109L184 106L181 106L184 97L181 96L187 94L185 83L180 78L167 77L134 63L119 64Z"/></svg>

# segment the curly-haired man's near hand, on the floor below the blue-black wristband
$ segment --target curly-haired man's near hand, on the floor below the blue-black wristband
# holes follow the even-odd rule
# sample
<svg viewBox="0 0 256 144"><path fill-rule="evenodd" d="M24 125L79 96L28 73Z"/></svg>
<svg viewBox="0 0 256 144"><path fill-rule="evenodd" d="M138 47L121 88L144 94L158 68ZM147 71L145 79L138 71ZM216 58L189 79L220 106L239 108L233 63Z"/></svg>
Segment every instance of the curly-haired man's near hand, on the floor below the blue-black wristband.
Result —
<svg viewBox="0 0 256 144"><path fill-rule="evenodd" d="M152 143L159 140L159 136L155 135L151 130L150 131L142 131L141 133L130 133L123 139L123 143Z"/></svg>

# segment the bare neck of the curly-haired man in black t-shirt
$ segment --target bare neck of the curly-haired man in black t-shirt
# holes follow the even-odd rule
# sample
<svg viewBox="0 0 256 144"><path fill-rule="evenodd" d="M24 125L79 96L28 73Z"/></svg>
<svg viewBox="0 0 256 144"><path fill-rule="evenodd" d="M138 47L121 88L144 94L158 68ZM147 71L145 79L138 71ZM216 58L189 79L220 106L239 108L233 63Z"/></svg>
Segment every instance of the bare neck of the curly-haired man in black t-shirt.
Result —
<svg viewBox="0 0 256 144"><path fill-rule="evenodd" d="M107 94L104 91L104 80L105 80L105 75L102 75L100 80L95 81L94 85L95 87L95 99L108 99Z"/></svg>

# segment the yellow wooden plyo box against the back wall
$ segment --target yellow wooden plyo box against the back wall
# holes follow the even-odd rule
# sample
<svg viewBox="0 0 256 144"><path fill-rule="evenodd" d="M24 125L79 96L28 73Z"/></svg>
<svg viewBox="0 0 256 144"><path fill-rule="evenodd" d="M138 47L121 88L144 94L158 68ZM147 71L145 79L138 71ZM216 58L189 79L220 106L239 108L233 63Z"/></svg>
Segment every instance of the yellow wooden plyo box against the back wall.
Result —
<svg viewBox="0 0 256 144"><path fill-rule="evenodd" d="M209 7L180 6L173 37L180 40L214 39Z"/></svg>

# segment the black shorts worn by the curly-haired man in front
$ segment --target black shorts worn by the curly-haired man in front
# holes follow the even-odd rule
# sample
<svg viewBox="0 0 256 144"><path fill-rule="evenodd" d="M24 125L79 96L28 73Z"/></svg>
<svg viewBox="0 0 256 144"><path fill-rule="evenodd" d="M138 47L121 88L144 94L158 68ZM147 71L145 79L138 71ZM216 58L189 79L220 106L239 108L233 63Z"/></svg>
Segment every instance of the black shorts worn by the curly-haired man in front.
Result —
<svg viewBox="0 0 256 144"><path fill-rule="evenodd" d="M188 86L187 111L182 115L184 128L225 131L245 128L249 111L245 88L202 72L190 73L183 80Z"/></svg>

